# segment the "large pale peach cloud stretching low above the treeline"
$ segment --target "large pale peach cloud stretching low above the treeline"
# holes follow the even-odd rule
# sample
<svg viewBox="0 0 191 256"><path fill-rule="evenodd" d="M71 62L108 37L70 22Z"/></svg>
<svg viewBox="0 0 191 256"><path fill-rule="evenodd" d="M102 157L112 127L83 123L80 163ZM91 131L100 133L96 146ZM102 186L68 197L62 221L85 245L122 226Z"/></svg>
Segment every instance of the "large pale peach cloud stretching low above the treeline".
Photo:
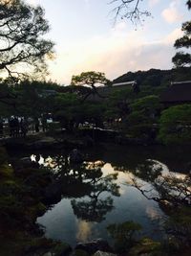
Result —
<svg viewBox="0 0 191 256"><path fill-rule="evenodd" d="M64 42L57 46L57 58L50 63L51 77L69 84L73 75L83 71L101 71L113 80L128 71L170 68L175 54L173 44L180 36L180 30L172 31L159 41L148 41L147 33L127 33L121 23L108 35Z"/></svg>

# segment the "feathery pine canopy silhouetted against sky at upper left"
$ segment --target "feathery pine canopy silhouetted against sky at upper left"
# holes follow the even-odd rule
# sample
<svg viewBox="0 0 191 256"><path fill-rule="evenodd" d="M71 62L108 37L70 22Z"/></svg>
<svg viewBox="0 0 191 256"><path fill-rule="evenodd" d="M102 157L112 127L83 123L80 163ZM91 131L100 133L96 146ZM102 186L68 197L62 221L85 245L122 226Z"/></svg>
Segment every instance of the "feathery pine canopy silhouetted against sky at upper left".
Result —
<svg viewBox="0 0 191 256"><path fill-rule="evenodd" d="M43 38L50 29L44 14L40 6L22 0L0 2L0 72L18 78L27 71L46 70L53 42Z"/></svg>

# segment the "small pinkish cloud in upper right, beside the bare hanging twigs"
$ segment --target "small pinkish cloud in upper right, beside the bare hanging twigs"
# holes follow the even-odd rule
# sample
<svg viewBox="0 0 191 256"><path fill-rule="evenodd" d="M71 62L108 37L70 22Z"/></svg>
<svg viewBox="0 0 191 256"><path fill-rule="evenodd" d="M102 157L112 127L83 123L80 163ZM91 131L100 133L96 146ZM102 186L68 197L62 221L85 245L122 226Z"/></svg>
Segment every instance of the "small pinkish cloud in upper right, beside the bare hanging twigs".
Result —
<svg viewBox="0 0 191 256"><path fill-rule="evenodd" d="M179 12L180 2L175 0L170 3L169 7L161 12L161 16L168 23L175 23L181 20L182 15Z"/></svg>

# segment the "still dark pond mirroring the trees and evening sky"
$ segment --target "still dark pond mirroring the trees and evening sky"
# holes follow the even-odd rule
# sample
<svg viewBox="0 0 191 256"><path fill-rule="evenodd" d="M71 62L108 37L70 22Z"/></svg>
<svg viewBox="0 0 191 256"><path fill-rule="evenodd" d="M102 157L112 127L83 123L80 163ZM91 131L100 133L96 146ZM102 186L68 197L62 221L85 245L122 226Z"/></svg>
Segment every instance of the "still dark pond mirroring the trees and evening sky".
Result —
<svg viewBox="0 0 191 256"><path fill-rule="evenodd" d="M140 223L139 236L161 240L165 213L156 201L141 194L134 181L144 182L147 191L157 194L145 170L183 175L191 167L189 152L106 145L83 151L86 161L77 165L70 163L67 152L33 152L32 159L57 174L63 186L61 200L37 222L45 227L48 238L72 245L97 238L110 242L107 226L123 221ZM144 175L137 176L140 172L145 172L145 179Z"/></svg>

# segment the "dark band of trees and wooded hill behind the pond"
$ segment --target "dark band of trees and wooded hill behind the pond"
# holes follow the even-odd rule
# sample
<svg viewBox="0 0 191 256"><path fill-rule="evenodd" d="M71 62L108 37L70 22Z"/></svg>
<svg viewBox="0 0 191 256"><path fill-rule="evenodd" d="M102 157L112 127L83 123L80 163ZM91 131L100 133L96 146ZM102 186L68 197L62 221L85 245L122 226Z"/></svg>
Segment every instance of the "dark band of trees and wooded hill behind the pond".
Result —
<svg viewBox="0 0 191 256"><path fill-rule="evenodd" d="M84 74L89 76L90 72ZM96 72L91 72L92 78L95 81ZM2 81L0 116L37 120L51 114L53 121L69 132L85 123L117 130L122 134L119 143L138 139L146 144L190 144L191 106L188 102L167 106L160 99L171 81L191 80L190 68L128 72L115 82L132 80L138 81L136 88L112 86L110 82L100 89L95 85L60 86L53 81Z"/></svg>

